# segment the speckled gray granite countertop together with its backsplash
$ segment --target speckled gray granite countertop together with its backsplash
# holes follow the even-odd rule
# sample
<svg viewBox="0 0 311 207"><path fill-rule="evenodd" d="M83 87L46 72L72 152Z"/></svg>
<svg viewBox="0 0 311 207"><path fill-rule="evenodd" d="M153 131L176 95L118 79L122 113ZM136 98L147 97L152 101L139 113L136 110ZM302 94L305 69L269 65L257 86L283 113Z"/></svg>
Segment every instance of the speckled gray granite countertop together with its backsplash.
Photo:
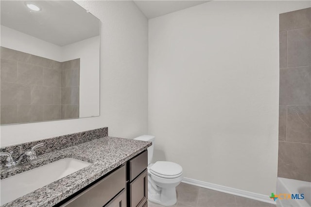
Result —
<svg viewBox="0 0 311 207"><path fill-rule="evenodd" d="M45 146L36 150L37 154L40 154L38 160L17 168L1 170L1 179L67 157L80 159L92 164L1 207L52 207L152 145L152 142L108 137L108 128L104 127L23 143L1 148L0 150L1 152L8 152L12 149L18 149L19 146L28 148L40 142L45 142Z"/></svg>

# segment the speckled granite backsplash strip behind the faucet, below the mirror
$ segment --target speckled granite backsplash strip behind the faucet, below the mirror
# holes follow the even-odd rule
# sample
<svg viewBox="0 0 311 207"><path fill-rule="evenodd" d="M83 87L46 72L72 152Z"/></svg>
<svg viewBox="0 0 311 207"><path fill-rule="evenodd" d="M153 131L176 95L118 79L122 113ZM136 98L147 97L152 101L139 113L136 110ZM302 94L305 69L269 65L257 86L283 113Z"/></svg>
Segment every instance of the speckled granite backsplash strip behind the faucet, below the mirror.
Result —
<svg viewBox="0 0 311 207"><path fill-rule="evenodd" d="M45 153L50 153L55 150L64 149L70 146L81 144L86 141L90 141L96 138L103 138L108 136L108 127L92 129L84 132L73 133L69 135L62 135L53 138L35 140L31 142L25 142L22 144L12 145L0 148L0 152L13 152L12 157L16 160L20 155L20 151L26 152L30 150L33 146L39 143L45 143L44 147L39 147L35 150L37 155L43 155ZM5 161L5 157L1 157L1 164Z"/></svg>

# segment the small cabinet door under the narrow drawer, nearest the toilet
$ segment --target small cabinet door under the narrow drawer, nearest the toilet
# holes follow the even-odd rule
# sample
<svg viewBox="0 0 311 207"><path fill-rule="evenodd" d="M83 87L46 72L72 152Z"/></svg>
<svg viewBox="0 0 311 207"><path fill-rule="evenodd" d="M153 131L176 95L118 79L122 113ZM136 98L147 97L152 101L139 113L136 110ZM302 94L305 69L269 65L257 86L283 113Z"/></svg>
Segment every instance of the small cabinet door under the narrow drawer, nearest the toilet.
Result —
<svg viewBox="0 0 311 207"><path fill-rule="evenodd" d="M147 169L130 183L131 207L142 207L148 199L148 174Z"/></svg>

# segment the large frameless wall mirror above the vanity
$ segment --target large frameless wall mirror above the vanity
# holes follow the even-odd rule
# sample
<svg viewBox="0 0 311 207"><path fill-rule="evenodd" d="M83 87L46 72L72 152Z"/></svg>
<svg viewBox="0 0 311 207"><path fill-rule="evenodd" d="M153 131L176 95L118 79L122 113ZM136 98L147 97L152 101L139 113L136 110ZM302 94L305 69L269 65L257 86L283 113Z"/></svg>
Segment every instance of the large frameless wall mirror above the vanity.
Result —
<svg viewBox="0 0 311 207"><path fill-rule="evenodd" d="M100 20L72 0L0 3L0 123L99 116Z"/></svg>

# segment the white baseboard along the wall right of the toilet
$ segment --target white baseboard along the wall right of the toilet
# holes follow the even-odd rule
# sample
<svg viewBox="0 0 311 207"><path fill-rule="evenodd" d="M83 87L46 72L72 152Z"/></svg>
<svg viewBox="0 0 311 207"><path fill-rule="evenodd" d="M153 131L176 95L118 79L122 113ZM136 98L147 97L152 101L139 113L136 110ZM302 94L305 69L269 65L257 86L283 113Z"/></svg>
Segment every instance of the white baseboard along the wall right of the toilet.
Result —
<svg viewBox="0 0 311 207"><path fill-rule="evenodd" d="M217 191L229 193L232 195L242 196L245 198L250 198L250 199L254 199L254 200L269 203L269 204L276 204L276 202L273 201L271 198L269 198L268 195L263 195L263 194L245 191L245 190L234 189L234 188L221 186L221 185L217 185L217 184L213 184L213 183L207 183L204 181L195 180L195 179L191 179L191 178L187 178L187 177L184 177L181 182L187 183L187 184L190 184L193 186L198 186L198 187L210 189L210 190L217 190Z"/></svg>

